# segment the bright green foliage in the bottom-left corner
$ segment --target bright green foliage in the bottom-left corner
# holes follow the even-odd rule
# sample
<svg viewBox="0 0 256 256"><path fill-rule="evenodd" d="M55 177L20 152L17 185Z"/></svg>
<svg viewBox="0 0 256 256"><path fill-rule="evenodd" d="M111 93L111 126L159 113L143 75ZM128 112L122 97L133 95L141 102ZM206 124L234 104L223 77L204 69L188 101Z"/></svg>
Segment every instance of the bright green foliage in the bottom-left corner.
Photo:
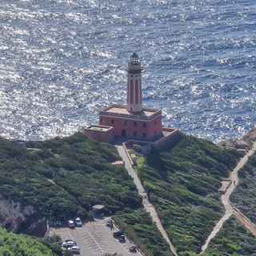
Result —
<svg viewBox="0 0 256 256"><path fill-rule="evenodd" d="M37 239L0 229L0 256L54 256L49 247Z"/></svg>

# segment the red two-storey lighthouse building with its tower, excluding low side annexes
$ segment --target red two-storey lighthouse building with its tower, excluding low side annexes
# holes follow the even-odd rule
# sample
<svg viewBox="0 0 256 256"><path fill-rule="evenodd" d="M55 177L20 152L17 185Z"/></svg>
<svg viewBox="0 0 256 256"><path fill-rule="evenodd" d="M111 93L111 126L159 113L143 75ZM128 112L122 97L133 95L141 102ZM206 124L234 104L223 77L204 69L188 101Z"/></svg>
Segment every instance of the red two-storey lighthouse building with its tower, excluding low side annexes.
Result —
<svg viewBox="0 0 256 256"><path fill-rule="evenodd" d="M162 134L162 111L142 106L142 66L132 54L127 72L127 104L112 105L99 113L100 126L112 126L114 137L153 141Z"/></svg>

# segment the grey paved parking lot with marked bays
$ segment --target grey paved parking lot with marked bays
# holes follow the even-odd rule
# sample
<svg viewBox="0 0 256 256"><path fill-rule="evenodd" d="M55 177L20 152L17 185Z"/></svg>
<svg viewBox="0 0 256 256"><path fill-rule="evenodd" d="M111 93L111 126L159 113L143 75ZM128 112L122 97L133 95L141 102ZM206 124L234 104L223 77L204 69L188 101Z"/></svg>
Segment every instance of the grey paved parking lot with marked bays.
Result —
<svg viewBox="0 0 256 256"><path fill-rule="evenodd" d="M128 239L126 242L119 242L113 237L114 228L106 226L107 219L96 220L95 222L86 222L82 227L75 229L66 228L51 228L50 235L58 234L62 241L72 239L77 242L81 249L81 256L101 256L105 253L122 254L122 256L142 256L139 252L131 253L130 246L134 244Z"/></svg>

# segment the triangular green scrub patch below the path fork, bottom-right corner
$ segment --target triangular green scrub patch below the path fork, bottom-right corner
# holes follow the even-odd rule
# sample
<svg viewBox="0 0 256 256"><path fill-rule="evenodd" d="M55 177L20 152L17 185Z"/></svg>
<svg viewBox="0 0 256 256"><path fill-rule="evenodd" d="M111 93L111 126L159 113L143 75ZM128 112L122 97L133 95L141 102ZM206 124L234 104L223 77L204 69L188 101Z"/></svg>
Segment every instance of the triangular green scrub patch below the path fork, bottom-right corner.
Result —
<svg viewBox="0 0 256 256"><path fill-rule="evenodd" d="M210 242L210 246L203 256L256 256L256 242L252 234L230 218L217 237Z"/></svg>

